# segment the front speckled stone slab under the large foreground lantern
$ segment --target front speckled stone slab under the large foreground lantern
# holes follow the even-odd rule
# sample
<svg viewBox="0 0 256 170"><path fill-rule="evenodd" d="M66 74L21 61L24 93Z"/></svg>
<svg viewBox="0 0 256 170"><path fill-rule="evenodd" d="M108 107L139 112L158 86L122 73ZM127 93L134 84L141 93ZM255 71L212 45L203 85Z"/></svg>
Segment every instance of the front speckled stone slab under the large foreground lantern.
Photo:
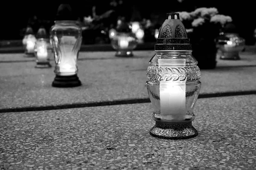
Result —
<svg viewBox="0 0 256 170"><path fill-rule="evenodd" d="M253 170L256 95L198 99L186 140L149 135L149 103L0 113L1 169Z"/></svg>

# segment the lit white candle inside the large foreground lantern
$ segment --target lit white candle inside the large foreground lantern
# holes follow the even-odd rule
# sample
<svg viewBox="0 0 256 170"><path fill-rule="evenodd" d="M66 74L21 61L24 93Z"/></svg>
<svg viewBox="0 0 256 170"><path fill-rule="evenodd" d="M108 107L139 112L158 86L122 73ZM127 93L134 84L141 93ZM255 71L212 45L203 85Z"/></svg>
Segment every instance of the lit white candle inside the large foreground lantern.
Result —
<svg viewBox="0 0 256 170"><path fill-rule="evenodd" d="M158 59L161 67L185 67L186 59ZM186 82L160 81L160 118L169 122L186 119Z"/></svg>

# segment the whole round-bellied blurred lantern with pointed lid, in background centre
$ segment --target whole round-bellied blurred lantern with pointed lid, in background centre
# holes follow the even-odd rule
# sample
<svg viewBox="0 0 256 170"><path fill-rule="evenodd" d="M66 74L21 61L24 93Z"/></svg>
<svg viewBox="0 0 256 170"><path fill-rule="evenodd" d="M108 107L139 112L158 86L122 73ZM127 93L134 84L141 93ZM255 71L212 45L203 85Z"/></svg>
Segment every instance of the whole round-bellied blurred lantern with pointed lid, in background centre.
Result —
<svg viewBox="0 0 256 170"><path fill-rule="evenodd" d="M137 47L138 40L132 33L128 23L123 18L116 27L116 36L112 38L111 45L116 50L116 56L133 56L132 51Z"/></svg>

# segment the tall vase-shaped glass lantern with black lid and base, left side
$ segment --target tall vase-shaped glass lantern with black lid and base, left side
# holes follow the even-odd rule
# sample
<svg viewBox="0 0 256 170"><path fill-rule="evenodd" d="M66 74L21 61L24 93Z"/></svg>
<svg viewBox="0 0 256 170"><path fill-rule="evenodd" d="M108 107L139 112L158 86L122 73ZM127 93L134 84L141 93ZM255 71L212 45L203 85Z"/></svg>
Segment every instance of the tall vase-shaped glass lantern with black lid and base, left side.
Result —
<svg viewBox="0 0 256 170"><path fill-rule="evenodd" d="M56 77L53 87L76 87L81 85L77 76L77 59L82 41L80 22L73 15L68 4L61 4L58 8L55 25L51 30L51 43L55 57Z"/></svg>

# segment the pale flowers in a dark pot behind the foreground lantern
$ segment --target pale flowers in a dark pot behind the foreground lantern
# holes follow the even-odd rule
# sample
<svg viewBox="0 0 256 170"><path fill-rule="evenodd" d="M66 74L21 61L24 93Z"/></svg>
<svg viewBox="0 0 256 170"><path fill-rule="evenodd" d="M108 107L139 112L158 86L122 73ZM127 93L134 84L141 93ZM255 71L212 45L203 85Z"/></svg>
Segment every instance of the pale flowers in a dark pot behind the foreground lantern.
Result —
<svg viewBox="0 0 256 170"><path fill-rule="evenodd" d="M217 8L197 8L192 12L177 12L183 22L190 43L192 55L198 60L201 69L212 69L216 66L215 38L225 24L232 22L230 16L218 14Z"/></svg>

